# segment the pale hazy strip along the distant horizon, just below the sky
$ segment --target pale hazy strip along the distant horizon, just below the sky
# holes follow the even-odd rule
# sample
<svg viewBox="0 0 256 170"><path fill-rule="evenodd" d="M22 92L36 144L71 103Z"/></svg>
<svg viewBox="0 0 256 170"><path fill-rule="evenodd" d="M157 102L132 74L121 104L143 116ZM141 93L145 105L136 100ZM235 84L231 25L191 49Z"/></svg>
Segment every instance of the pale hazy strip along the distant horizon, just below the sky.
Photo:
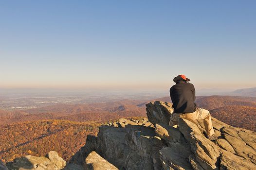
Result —
<svg viewBox="0 0 256 170"><path fill-rule="evenodd" d="M211 96L211 95L234 95L236 90L251 89L251 88L196 88L196 96ZM253 89L256 89L254 87ZM72 88L0 88L0 95L34 95L34 96L80 96L80 95L153 95L157 97L169 96L169 88L166 89L72 89Z"/></svg>

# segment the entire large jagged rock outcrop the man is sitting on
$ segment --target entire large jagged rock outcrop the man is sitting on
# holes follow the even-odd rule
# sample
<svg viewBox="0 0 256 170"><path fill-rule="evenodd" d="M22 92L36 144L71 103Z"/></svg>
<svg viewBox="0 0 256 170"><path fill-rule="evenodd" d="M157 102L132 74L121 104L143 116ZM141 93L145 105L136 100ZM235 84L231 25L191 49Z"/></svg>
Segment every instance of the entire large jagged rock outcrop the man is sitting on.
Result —
<svg viewBox="0 0 256 170"><path fill-rule="evenodd" d="M255 132L212 118L218 136L213 142L205 137L201 120L179 119L178 128L168 126L170 103L150 102L146 112L148 120L119 119L101 126L66 168L84 169L102 160L119 170L256 170Z"/></svg>

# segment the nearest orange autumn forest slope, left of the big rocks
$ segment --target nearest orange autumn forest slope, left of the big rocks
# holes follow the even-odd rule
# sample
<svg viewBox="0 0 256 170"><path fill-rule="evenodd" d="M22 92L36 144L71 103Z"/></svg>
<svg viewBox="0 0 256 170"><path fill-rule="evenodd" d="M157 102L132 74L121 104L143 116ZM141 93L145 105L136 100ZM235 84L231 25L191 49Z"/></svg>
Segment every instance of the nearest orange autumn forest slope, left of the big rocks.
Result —
<svg viewBox="0 0 256 170"><path fill-rule="evenodd" d="M97 135L100 123L43 120L16 123L0 129L0 158L12 161L24 155L45 156L56 151L66 161L85 144L87 135Z"/></svg>

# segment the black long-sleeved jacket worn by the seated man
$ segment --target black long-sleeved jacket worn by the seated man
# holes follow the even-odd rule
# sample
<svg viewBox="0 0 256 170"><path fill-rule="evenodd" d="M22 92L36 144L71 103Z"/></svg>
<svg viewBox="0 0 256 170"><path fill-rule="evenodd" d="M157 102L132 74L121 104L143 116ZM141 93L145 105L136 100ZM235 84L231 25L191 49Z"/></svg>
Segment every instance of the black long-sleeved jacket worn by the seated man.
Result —
<svg viewBox="0 0 256 170"><path fill-rule="evenodd" d="M192 113L196 111L194 85L185 81L178 81L176 85L170 88L170 96L175 113Z"/></svg>

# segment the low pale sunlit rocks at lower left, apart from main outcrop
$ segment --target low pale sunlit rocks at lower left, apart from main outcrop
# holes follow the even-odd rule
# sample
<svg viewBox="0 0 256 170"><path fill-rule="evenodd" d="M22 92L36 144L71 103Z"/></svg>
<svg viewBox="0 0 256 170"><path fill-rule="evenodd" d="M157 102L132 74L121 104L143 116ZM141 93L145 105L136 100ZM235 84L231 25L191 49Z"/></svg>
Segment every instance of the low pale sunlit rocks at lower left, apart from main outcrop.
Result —
<svg viewBox="0 0 256 170"><path fill-rule="evenodd" d="M55 151L49 152L46 157L26 155L6 163L9 170L62 170L65 165L66 161Z"/></svg>

